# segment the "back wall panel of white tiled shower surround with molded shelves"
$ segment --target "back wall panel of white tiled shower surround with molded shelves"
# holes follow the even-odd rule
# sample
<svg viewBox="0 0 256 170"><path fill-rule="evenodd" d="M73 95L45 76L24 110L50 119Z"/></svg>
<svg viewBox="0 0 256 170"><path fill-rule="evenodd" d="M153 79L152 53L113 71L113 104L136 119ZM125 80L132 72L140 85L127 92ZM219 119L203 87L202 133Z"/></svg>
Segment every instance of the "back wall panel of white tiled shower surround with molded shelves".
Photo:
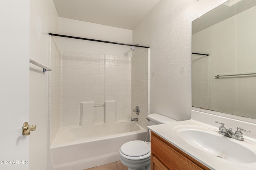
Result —
<svg viewBox="0 0 256 170"><path fill-rule="evenodd" d="M62 51L60 127L130 119L131 60L132 57Z"/></svg>

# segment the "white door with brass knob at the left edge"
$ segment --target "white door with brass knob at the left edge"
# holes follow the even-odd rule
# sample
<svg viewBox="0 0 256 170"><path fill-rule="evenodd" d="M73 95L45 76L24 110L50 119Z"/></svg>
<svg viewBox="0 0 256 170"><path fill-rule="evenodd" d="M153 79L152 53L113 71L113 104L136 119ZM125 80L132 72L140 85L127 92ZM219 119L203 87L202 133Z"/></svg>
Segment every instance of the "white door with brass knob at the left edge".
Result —
<svg viewBox="0 0 256 170"><path fill-rule="evenodd" d="M29 0L0 1L0 170L29 169Z"/></svg>

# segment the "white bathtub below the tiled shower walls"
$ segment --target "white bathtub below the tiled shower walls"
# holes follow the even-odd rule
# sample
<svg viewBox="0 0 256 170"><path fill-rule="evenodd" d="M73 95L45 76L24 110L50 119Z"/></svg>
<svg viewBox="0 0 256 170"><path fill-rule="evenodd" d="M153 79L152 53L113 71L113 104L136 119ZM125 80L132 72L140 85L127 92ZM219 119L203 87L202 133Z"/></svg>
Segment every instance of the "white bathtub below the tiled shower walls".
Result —
<svg viewBox="0 0 256 170"><path fill-rule="evenodd" d="M146 140L147 131L135 122L118 122L60 129L52 145L54 170L84 170L120 160L120 147Z"/></svg>

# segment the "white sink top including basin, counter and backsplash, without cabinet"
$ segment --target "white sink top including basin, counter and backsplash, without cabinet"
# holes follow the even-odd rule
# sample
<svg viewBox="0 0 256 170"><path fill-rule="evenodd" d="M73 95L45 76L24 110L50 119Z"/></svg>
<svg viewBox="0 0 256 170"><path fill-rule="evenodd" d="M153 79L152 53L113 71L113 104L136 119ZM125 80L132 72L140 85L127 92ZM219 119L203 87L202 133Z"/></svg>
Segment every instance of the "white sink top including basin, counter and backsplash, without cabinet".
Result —
<svg viewBox="0 0 256 170"><path fill-rule="evenodd" d="M219 134L214 121L224 122L228 128L244 127L252 133L244 133L244 141L238 141ZM192 110L190 120L148 129L209 169L256 170L256 123Z"/></svg>

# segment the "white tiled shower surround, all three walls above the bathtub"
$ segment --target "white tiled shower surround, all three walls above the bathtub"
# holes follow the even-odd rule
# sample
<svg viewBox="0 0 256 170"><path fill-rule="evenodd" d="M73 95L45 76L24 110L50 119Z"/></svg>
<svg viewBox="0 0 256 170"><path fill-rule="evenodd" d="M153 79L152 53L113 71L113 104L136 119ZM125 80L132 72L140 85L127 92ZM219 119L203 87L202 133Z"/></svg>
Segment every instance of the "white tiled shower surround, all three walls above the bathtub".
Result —
<svg viewBox="0 0 256 170"><path fill-rule="evenodd" d="M146 119L142 117L148 114L147 50L134 57L72 51L62 51L60 57L56 46L56 52L53 48L49 54L58 61L54 59L51 63L56 62L58 70L52 72L48 83L52 139L59 126L130 120L132 105L142 108L139 123L146 128ZM104 102L105 107L93 106Z"/></svg>

